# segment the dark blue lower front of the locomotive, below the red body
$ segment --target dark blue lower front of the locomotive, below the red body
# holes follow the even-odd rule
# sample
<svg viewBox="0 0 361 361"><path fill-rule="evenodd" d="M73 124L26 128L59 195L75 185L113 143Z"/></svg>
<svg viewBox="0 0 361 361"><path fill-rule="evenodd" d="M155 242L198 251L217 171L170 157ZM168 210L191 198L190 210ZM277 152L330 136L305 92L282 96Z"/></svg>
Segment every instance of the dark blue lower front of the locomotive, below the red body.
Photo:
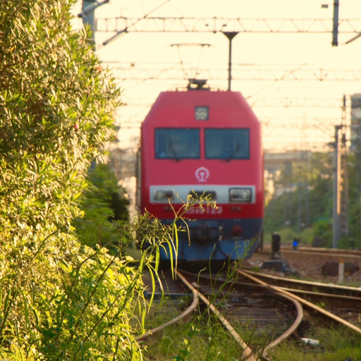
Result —
<svg viewBox="0 0 361 361"><path fill-rule="evenodd" d="M169 225L171 220L161 220ZM178 231L178 261L235 261L252 255L262 238L263 219L198 219L180 223ZM238 234L239 233L239 234ZM166 248L167 249L167 248ZM160 258L169 260L169 250L160 248ZM173 258L175 255L173 253Z"/></svg>

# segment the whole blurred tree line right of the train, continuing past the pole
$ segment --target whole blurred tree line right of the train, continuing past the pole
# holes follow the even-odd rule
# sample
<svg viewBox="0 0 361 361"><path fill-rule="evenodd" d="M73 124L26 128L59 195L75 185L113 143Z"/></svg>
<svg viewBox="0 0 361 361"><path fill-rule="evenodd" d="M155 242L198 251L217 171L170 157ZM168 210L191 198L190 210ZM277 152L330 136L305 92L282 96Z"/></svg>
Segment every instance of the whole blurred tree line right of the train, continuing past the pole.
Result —
<svg viewBox="0 0 361 361"><path fill-rule="evenodd" d="M360 247L360 159L348 154L348 235L341 235L340 247ZM305 161L288 163L274 176L279 195L265 207L266 242L272 232L283 241L300 238L312 244L314 238L323 247L332 245L333 152L311 153Z"/></svg>

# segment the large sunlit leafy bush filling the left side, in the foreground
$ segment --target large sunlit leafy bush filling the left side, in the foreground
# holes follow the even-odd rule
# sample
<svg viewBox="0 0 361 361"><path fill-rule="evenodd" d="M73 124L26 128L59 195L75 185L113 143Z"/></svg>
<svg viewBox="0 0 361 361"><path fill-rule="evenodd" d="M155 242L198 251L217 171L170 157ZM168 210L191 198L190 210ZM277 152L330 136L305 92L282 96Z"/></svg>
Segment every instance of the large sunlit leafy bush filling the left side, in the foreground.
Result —
<svg viewBox="0 0 361 361"><path fill-rule="evenodd" d="M137 360L140 273L71 225L119 104L73 3L0 2L0 358Z"/></svg>

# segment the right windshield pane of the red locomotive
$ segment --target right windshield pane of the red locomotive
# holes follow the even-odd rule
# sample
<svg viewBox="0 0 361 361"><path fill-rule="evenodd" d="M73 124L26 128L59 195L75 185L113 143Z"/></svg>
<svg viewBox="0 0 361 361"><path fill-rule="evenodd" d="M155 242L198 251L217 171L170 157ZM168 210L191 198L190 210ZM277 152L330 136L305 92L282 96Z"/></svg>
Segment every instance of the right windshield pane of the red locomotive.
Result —
<svg viewBox="0 0 361 361"><path fill-rule="evenodd" d="M207 128L204 131L206 159L250 159L249 129Z"/></svg>

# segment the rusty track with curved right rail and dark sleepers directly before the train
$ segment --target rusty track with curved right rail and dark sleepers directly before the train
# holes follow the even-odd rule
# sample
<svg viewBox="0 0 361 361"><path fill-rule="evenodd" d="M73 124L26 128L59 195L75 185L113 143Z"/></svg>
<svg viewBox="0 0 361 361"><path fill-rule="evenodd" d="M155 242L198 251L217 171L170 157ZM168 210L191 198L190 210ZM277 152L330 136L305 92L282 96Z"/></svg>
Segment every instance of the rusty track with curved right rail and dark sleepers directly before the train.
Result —
<svg viewBox="0 0 361 361"><path fill-rule="evenodd" d="M290 336L302 321L302 307L298 301L287 295L270 292L264 286L243 285L234 281L228 281L225 285L224 279L220 277L213 279L186 271L178 271L177 278L194 295L192 306L171 322L149 331L139 339L144 340L164 327L180 322L184 315L195 310L194 302L199 300L202 305L200 309L214 314L243 349L239 357L259 360L262 353L265 357L269 348ZM243 329L247 340L243 340L236 331L238 329ZM264 347L265 338L267 347Z"/></svg>

